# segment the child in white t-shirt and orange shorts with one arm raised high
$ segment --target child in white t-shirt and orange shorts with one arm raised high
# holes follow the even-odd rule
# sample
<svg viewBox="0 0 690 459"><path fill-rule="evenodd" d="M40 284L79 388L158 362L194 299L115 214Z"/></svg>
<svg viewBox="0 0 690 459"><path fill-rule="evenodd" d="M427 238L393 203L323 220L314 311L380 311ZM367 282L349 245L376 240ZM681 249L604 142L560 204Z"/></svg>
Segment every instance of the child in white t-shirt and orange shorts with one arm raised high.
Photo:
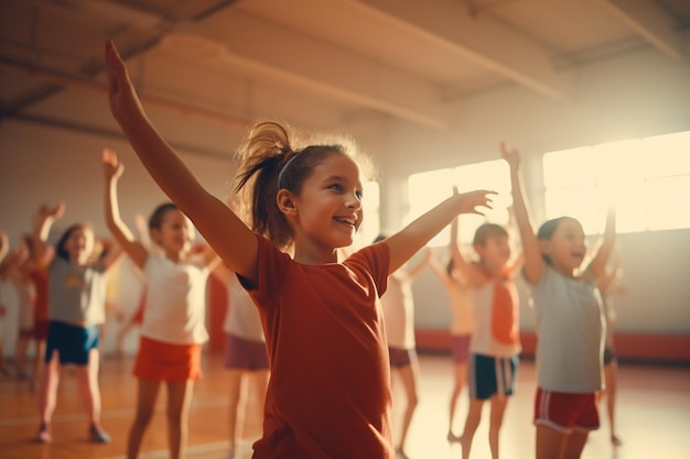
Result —
<svg viewBox="0 0 690 459"><path fill-rule="evenodd" d="M216 256L207 251L191 256L195 230L190 219L172 203L155 208L149 218L154 253L140 241L120 217L117 187L125 170L116 153L104 149L106 222L115 240L147 282L145 306L139 352L134 363L138 379L137 413L129 433L127 457L139 457L141 442L162 384L168 389L168 436L170 457L184 457L188 411L194 382L202 378L202 345L205 326L206 281Z"/></svg>

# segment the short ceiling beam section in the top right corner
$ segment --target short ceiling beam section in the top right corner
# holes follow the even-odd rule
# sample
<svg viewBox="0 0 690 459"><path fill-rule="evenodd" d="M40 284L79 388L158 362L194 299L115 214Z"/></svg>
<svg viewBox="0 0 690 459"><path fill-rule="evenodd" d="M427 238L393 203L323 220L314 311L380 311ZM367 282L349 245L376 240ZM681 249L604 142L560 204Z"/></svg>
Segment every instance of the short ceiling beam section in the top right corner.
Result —
<svg viewBox="0 0 690 459"><path fill-rule="evenodd" d="M651 0L600 0L623 22L666 55L683 61L680 34L673 19Z"/></svg>

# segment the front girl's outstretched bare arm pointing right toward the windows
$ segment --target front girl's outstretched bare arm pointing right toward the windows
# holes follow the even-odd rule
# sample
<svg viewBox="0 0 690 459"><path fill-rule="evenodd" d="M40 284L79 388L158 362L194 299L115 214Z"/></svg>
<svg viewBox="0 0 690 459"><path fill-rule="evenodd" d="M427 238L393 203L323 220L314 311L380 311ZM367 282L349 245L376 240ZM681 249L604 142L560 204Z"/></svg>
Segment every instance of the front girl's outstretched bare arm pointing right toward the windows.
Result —
<svg viewBox="0 0 690 459"><path fill-rule="evenodd" d="M389 237L389 274L407 262L459 214L479 214L477 207L490 208L489 195L494 192L476 190L453 195L410 225Z"/></svg>

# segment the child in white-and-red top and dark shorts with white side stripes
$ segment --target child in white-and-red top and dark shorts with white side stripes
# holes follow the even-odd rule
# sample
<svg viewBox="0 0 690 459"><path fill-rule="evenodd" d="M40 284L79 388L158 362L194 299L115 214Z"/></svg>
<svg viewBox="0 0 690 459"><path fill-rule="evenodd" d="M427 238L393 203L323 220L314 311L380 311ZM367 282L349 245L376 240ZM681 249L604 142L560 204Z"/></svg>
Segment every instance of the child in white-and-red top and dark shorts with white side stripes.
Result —
<svg viewBox="0 0 690 459"><path fill-rule="evenodd" d="M499 225L481 225L473 248L477 260L465 260L459 249L453 250L453 264L470 288L474 323L467 363L470 407L459 441L462 457L467 459L488 401L488 444L492 458L498 459L500 426L508 397L515 392L519 363L519 297L514 282L519 263L511 263L508 230Z"/></svg>

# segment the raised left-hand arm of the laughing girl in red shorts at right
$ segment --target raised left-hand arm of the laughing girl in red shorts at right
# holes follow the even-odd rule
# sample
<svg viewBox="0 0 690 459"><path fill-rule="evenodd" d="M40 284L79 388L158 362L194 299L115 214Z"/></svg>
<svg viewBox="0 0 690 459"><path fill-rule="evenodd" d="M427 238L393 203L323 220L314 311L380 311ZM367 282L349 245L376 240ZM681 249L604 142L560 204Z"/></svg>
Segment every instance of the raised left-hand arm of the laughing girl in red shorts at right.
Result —
<svg viewBox="0 0 690 459"><path fill-rule="evenodd" d="M545 261L541 258L539 241L529 221L529 211L527 210L527 198L522 192L521 172L520 172L520 153L500 142L500 153L508 162L510 167L510 188L513 192L513 212L515 215L515 223L517 225L522 242L522 258L525 263L525 276L527 282L536 284L541 278L545 269Z"/></svg>

